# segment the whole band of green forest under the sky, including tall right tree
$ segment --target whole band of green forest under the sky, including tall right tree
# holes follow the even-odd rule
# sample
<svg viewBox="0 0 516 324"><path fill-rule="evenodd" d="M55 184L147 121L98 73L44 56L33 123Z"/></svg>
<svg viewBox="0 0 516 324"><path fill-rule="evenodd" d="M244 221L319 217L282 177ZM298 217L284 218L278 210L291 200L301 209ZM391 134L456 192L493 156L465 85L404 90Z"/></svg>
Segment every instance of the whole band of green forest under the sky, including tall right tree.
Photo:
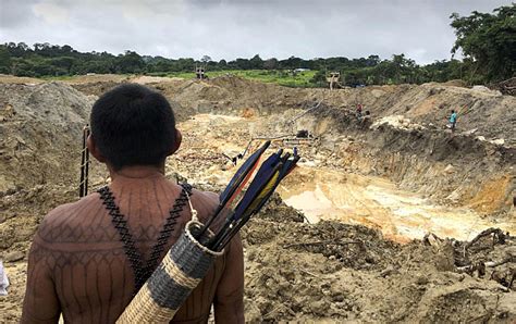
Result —
<svg viewBox="0 0 516 324"><path fill-rule="evenodd" d="M381 59L344 57L311 59L291 57L284 60L250 59L213 61L205 55L169 59L140 55L127 50L122 54L108 52L79 52L69 45L48 42L28 46L24 42L0 45L0 73L30 77L65 77L96 74L147 74L156 76L193 76L196 66L204 66L208 76L232 73L254 75L263 80L286 86L325 86L330 72L341 74L346 86L422 84L463 79L467 84L488 84L514 76L516 65L516 4L501 7L493 13L472 12L469 16L453 13L451 26L456 41L451 49L452 59L418 65L405 54ZM453 59L456 53L462 60ZM300 76L296 78L297 74ZM296 80L297 79L297 80Z"/></svg>

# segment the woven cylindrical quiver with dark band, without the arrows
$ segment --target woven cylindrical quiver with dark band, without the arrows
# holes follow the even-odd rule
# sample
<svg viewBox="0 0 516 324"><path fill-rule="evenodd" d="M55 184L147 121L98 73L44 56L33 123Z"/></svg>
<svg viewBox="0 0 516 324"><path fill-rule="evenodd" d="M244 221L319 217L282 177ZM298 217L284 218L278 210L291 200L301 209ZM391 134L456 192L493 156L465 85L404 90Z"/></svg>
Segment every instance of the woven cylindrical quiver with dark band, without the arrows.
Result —
<svg viewBox="0 0 516 324"><path fill-rule="evenodd" d="M116 323L169 323L192 290L213 263L216 252L201 245L213 234L209 230L199 239L193 234L202 224L191 221L175 245L139 289Z"/></svg>

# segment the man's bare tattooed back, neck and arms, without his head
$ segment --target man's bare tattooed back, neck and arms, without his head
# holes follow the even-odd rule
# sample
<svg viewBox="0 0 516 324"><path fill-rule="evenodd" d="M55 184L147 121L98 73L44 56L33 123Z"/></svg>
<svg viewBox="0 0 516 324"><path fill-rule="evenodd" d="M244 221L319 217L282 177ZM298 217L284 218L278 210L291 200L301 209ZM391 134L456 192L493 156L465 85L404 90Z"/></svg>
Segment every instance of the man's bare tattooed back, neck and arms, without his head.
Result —
<svg viewBox="0 0 516 324"><path fill-rule="evenodd" d="M148 260L182 188L158 173L145 178L119 176L110 189L137 238L137 249ZM214 194L194 190L192 203L200 220L213 212L217 200ZM191 216L189 208L181 212L163 256ZM22 322L56 322L62 312L66 322L112 323L131 301L134 287L120 235L99 195L93 194L53 210L41 223L29 256ZM238 322L242 295L242 244L235 239L174 321L206 322L213 301L216 320Z"/></svg>

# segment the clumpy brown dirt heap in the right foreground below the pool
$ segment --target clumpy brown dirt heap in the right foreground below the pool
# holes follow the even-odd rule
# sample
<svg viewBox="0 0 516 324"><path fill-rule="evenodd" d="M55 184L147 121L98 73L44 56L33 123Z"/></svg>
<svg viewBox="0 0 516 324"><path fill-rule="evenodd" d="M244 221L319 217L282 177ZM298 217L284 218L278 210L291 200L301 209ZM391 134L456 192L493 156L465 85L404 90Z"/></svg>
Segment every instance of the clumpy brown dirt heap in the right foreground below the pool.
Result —
<svg viewBox="0 0 516 324"><path fill-rule="evenodd" d="M504 292L490 274L454 271L462 244L401 246L363 226L262 220L244 237L249 321L511 323L516 316L515 291ZM487 239L468 254L503 260L514 247ZM500 272L511 278L509 266Z"/></svg>

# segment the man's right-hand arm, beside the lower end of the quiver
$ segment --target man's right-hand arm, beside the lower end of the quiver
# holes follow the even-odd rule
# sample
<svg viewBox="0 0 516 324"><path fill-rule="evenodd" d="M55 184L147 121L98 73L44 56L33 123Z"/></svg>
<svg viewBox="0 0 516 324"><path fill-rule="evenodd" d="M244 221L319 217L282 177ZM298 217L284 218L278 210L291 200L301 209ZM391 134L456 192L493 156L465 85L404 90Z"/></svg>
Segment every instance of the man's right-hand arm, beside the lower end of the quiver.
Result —
<svg viewBox="0 0 516 324"><path fill-rule="evenodd" d="M213 301L214 319L217 323L244 323L244 252L239 234L228 249L224 273Z"/></svg>

